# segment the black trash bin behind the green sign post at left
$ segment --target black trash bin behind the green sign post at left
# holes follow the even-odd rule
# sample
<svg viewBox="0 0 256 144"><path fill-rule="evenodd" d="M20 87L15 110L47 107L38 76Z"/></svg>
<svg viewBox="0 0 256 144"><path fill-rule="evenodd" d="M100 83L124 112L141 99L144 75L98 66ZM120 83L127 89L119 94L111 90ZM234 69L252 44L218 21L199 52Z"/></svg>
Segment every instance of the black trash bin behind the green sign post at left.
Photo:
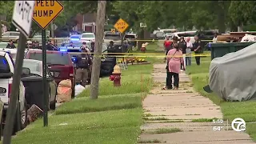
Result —
<svg viewBox="0 0 256 144"><path fill-rule="evenodd" d="M25 98L29 106L33 104L44 110L44 97L42 94L42 77L23 77L21 78L26 90ZM49 81L46 82L49 87ZM46 89L46 94L49 95L49 90Z"/></svg>

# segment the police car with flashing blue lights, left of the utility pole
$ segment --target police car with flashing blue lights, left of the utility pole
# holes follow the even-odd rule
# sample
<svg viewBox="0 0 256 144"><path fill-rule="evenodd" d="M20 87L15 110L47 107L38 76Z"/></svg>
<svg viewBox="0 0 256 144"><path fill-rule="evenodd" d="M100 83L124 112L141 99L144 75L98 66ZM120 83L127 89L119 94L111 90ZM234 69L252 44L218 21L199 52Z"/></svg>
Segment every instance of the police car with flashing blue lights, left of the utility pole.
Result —
<svg viewBox="0 0 256 144"><path fill-rule="evenodd" d="M65 52L81 52L82 51L82 42L65 42L62 43L62 46L58 48L58 51ZM90 41L86 42L86 46L91 50Z"/></svg>

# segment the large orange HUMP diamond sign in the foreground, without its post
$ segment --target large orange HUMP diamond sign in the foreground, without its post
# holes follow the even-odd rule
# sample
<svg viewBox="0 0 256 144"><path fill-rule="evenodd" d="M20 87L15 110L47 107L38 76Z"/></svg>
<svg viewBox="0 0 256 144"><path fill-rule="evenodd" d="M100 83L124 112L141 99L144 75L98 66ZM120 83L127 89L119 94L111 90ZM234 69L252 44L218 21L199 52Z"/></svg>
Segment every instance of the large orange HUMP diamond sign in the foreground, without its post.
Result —
<svg viewBox="0 0 256 144"><path fill-rule="evenodd" d="M38 23L43 30L62 12L64 6L58 1L36 0L34 3L34 22Z"/></svg>

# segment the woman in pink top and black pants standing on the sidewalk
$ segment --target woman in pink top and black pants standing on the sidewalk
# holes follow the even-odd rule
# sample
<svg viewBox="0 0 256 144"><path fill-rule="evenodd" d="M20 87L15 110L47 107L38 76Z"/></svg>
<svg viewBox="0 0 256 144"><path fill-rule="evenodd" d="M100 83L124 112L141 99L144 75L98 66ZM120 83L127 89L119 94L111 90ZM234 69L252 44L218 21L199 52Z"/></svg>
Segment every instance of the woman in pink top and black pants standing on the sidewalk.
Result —
<svg viewBox="0 0 256 144"><path fill-rule="evenodd" d="M174 49L169 50L167 54L167 78L166 87L163 89L172 89L172 77L174 77L174 90L178 90L179 76L181 64L184 65L182 50L178 49L178 44L174 43ZM183 66L185 67L185 66Z"/></svg>

